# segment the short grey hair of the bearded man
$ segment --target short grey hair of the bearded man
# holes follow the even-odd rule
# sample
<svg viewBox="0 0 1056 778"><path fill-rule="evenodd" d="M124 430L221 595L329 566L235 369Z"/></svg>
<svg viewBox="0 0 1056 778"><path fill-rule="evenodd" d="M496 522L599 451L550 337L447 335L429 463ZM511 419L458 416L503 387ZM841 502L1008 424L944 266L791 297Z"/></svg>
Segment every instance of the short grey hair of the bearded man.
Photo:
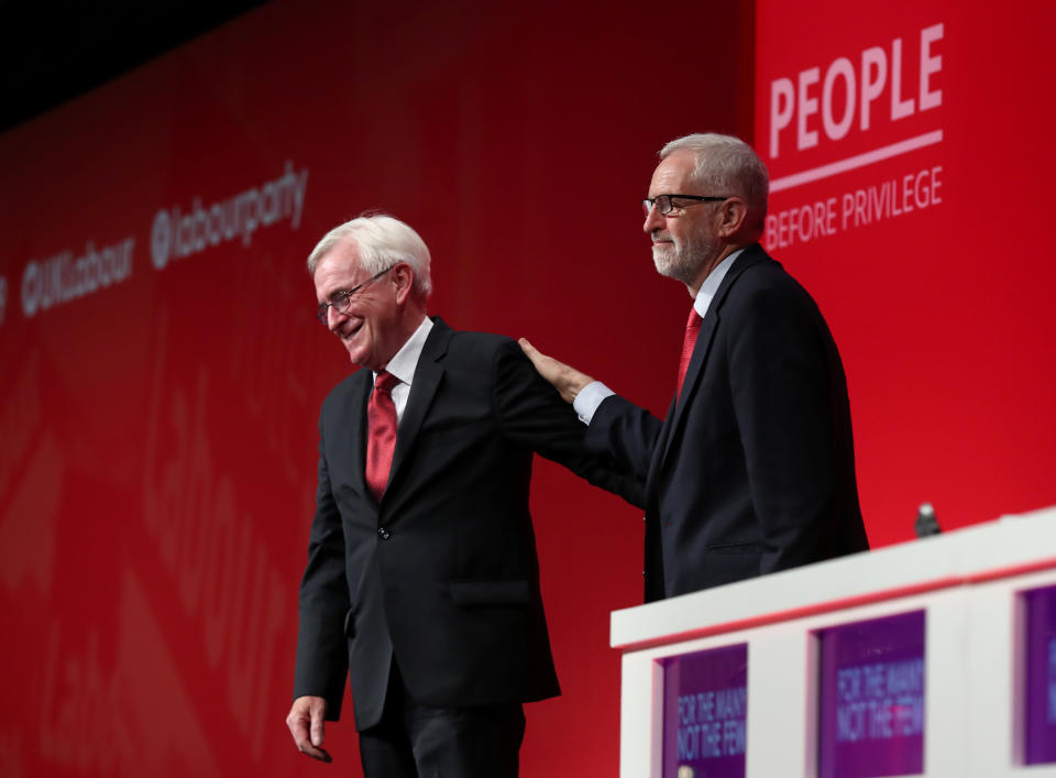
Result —
<svg viewBox="0 0 1056 778"><path fill-rule="evenodd" d="M708 195L736 195L749 209L749 218L762 231L767 216L770 176L759 155L739 138L715 132L698 132L678 138L660 150L666 160L676 151L692 152L696 160L693 178L697 184L717 187L722 191Z"/></svg>

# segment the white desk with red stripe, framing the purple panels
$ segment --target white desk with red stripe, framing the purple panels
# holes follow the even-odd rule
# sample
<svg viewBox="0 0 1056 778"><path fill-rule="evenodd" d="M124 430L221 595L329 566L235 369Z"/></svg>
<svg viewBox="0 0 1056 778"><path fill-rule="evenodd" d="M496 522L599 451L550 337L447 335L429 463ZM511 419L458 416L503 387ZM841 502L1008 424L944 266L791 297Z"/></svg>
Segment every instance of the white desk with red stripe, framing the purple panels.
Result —
<svg viewBox="0 0 1056 778"><path fill-rule="evenodd" d="M663 775L664 660L747 644L745 775L815 778L818 634L923 611L923 771L910 775L1056 777L1056 764L1023 764L1024 592L1053 585L1056 507L615 611L620 776Z"/></svg>

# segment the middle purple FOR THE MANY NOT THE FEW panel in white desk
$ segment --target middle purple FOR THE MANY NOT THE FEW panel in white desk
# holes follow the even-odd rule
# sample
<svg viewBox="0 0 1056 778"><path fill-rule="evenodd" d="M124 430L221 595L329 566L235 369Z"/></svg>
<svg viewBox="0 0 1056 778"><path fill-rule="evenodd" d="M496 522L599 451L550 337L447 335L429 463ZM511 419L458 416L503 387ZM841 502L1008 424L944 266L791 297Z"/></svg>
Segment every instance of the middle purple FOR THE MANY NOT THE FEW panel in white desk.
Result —
<svg viewBox="0 0 1056 778"><path fill-rule="evenodd" d="M820 778L924 770L924 611L822 629Z"/></svg>

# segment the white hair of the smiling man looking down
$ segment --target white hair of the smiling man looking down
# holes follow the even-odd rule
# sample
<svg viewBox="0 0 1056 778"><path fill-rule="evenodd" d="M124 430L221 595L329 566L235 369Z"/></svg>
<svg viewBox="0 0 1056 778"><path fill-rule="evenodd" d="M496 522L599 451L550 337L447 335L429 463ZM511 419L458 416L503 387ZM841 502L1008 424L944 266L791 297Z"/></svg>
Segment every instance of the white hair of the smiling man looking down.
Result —
<svg viewBox="0 0 1056 778"><path fill-rule="evenodd" d="M322 257L345 241L359 249L360 266L369 275L405 262L415 272L414 292L422 298L432 293L426 242L409 224L385 213L364 213L330 230L308 255L308 272L315 275Z"/></svg>

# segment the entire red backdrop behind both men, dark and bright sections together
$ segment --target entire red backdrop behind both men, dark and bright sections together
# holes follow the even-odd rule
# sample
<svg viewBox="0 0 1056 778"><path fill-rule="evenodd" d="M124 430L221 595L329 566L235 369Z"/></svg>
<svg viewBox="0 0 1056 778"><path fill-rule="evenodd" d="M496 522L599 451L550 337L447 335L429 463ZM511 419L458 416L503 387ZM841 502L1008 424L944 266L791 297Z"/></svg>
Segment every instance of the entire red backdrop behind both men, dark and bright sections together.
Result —
<svg viewBox="0 0 1056 778"><path fill-rule="evenodd" d="M939 204L773 249L842 347L870 536L906 539L922 500L949 525L1056 502L1056 273L1026 245L1054 168L1034 97L1052 12L884 3L862 24L814 4L673 23L639 3L274 2L0 136L0 774L328 769L283 723L315 420L349 370L311 316L315 241L392 212L432 250L433 313L663 413L689 300L640 232L654 150L711 129L768 152L772 83L813 67L821 140L798 149L793 117L776 179L943 132L772 199L779 216L943 168ZM872 129L831 140L810 113L831 64L857 72L872 46L890 64L901 36L919 99L935 24L942 105L892 120L881 92ZM524 774L614 775L608 613L640 602L640 514L547 462L532 501L564 695L529 706ZM351 721L328 746L358 775Z"/></svg>

